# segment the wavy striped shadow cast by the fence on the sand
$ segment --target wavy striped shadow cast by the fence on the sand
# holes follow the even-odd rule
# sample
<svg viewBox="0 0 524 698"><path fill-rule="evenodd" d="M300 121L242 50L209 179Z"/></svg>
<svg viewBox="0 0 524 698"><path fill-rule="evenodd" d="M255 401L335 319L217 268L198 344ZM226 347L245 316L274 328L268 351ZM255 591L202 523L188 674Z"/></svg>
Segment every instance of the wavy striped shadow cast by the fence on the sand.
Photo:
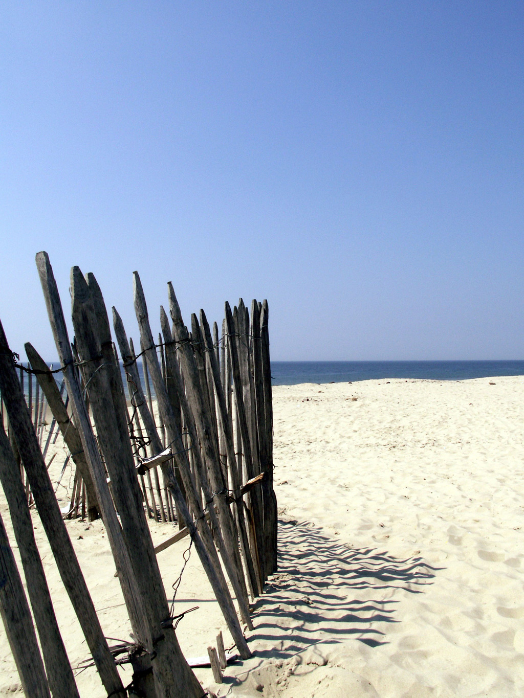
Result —
<svg viewBox="0 0 524 698"><path fill-rule="evenodd" d="M256 602L250 641L269 641L259 658L290 658L316 644L355 639L386 644L400 603L395 589L422 593L438 568L422 558L354 549L310 523L279 521L279 571ZM396 598L392 598L395 596Z"/></svg>

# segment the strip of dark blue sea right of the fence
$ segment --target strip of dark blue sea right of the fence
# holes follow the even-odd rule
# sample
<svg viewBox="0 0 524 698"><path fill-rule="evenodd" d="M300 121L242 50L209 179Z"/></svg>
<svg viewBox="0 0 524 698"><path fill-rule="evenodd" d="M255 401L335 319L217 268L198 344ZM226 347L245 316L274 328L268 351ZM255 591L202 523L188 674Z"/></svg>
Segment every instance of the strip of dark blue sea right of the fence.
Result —
<svg viewBox="0 0 524 698"><path fill-rule="evenodd" d="M467 380L524 376L524 361L272 361L272 385L347 383L375 378Z"/></svg>

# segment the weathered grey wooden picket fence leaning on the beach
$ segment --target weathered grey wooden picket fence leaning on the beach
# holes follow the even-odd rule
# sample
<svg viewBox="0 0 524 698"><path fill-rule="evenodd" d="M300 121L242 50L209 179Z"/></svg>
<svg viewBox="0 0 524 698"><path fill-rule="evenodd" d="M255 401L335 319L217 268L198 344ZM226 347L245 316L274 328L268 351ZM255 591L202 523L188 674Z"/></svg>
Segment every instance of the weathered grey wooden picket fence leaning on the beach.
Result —
<svg viewBox="0 0 524 698"><path fill-rule="evenodd" d="M233 311L226 303L221 328L211 328L201 311L191 315L189 329L168 284L171 321L161 308L162 334L155 339L135 272L136 352L115 308L117 346L112 342L96 279L73 267L70 343L47 253L36 255L36 265L61 387L31 344L25 346L31 368L17 364L0 325L0 426L6 426L0 428L0 480L42 647L0 519L0 611L22 686L31 697L78 696L34 541L30 508L36 505L108 696L123 698L129 690L145 698L201 698L201 685L180 651L156 554L190 537L238 653L249 658L240 620L253 628L249 596L260 595L277 568L268 304L253 301L249 314L242 300ZM46 414L52 422L44 439ZM75 466L66 514L46 463L59 433ZM124 648L108 646L68 537L64 517L78 515L103 519L136 639ZM147 517L176 522L179 530L154 548ZM210 660L216 675L212 648ZM127 688L117 671L123 662L133 667Z"/></svg>

